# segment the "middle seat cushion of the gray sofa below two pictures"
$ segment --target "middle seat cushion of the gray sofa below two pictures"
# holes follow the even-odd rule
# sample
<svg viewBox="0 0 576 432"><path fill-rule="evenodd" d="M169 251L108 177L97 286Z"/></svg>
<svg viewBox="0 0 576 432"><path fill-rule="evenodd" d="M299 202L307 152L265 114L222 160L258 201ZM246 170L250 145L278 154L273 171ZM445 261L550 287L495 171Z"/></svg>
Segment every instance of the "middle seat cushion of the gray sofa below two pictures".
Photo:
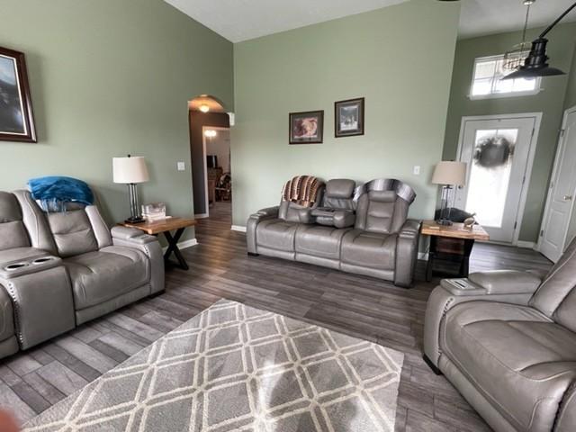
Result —
<svg viewBox="0 0 576 432"><path fill-rule="evenodd" d="M296 253L339 259L340 245L347 231L319 225L301 225L296 231Z"/></svg>

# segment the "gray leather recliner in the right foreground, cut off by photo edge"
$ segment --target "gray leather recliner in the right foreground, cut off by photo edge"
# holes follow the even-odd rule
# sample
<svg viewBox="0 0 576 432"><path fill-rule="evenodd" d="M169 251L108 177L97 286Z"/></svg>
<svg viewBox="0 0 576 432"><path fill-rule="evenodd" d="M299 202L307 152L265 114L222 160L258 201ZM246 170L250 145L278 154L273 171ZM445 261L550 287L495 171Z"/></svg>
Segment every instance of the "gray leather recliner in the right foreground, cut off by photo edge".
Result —
<svg viewBox="0 0 576 432"><path fill-rule="evenodd" d="M495 271L442 281L425 359L496 431L576 430L576 240L541 280Z"/></svg>

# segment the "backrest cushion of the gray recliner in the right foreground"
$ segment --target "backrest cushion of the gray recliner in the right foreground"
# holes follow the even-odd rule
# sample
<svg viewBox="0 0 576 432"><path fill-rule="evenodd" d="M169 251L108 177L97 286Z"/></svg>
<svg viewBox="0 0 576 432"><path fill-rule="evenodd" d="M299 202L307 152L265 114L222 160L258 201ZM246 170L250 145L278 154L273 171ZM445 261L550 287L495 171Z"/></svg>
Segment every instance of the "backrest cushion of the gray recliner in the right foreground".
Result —
<svg viewBox="0 0 576 432"><path fill-rule="evenodd" d="M530 305L576 331L576 238L546 275Z"/></svg>

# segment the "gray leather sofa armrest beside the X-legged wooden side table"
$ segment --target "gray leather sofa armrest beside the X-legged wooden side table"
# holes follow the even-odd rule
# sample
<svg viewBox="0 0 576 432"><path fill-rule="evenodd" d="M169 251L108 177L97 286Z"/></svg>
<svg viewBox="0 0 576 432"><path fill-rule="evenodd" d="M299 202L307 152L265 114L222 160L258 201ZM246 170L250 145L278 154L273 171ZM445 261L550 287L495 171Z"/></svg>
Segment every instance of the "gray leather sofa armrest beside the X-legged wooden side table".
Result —
<svg viewBox="0 0 576 432"><path fill-rule="evenodd" d="M113 227L111 231L114 246L131 247L146 254L150 263L150 294L163 292L165 288L164 253L158 239L136 228Z"/></svg>

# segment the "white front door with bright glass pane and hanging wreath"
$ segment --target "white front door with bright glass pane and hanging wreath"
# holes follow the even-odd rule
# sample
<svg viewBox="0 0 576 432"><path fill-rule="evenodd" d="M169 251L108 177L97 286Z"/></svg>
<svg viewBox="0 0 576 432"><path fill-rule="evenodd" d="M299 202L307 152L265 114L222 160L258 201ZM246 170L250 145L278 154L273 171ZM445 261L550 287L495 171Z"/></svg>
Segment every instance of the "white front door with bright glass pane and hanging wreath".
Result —
<svg viewBox="0 0 576 432"><path fill-rule="evenodd" d="M468 171L455 207L476 213L491 241L518 240L537 121L536 114L463 119L458 157Z"/></svg>

